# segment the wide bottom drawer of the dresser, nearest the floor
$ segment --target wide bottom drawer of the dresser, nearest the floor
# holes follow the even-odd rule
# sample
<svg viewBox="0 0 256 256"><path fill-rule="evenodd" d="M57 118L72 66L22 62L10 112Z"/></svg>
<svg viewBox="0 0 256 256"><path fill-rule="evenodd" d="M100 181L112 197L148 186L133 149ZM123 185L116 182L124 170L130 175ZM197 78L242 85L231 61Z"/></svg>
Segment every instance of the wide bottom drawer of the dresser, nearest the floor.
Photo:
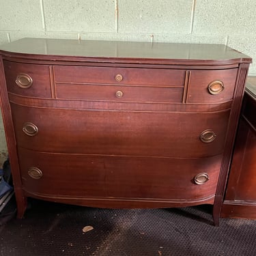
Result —
<svg viewBox="0 0 256 256"><path fill-rule="evenodd" d="M18 157L23 189L53 197L200 201L214 196L221 166L221 155L210 158L89 156L19 148ZM199 173L206 173L209 179L196 184L194 178Z"/></svg>

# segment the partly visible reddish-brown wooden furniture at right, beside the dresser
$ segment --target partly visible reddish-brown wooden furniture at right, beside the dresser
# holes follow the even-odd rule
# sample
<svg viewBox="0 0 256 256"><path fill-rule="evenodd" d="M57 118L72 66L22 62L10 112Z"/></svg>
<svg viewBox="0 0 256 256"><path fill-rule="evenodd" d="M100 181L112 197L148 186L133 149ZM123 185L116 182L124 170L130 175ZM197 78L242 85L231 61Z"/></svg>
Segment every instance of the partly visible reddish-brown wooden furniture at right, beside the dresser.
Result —
<svg viewBox="0 0 256 256"><path fill-rule="evenodd" d="M256 77L246 83L221 216L256 219Z"/></svg>

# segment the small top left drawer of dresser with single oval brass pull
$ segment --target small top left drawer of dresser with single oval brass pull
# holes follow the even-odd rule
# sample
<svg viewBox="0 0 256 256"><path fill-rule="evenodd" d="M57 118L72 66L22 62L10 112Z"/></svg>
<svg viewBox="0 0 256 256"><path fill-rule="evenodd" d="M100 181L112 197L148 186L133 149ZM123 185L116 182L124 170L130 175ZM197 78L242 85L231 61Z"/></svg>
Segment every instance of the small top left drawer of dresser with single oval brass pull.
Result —
<svg viewBox="0 0 256 256"><path fill-rule="evenodd" d="M3 61L8 91L21 96L51 98L49 66Z"/></svg>

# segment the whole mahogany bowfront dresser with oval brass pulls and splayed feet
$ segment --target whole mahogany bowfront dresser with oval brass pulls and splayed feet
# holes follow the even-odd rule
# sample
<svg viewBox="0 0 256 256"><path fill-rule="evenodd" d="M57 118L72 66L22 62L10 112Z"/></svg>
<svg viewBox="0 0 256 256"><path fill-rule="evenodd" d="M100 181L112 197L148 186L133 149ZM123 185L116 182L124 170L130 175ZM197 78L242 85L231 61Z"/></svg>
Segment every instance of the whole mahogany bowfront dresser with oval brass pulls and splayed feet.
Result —
<svg viewBox="0 0 256 256"><path fill-rule="evenodd" d="M31 38L0 53L18 218L27 197L210 203L218 225L250 57L223 45Z"/></svg>

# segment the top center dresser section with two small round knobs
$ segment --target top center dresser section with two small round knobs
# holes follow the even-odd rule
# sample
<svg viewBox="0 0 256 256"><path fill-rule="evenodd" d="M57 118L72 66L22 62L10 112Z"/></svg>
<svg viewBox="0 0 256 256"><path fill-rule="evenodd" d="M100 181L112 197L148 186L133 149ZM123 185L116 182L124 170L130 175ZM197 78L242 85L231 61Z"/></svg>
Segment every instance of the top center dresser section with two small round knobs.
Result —
<svg viewBox="0 0 256 256"><path fill-rule="evenodd" d="M57 98L182 102L185 70L55 66Z"/></svg>

